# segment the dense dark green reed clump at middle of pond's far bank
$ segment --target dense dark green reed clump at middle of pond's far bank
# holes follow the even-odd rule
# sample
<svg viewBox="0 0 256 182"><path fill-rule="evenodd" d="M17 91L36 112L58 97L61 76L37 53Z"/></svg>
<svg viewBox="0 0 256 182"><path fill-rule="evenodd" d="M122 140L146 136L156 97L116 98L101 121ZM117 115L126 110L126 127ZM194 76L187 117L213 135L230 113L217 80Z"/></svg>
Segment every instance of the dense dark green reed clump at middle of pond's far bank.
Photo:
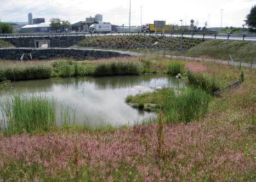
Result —
<svg viewBox="0 0 256 182"><path fill-rule="evenodd" d="M111 61L96 65L94 75L136 75L140 74L140 64L135 61Z"/></svg>

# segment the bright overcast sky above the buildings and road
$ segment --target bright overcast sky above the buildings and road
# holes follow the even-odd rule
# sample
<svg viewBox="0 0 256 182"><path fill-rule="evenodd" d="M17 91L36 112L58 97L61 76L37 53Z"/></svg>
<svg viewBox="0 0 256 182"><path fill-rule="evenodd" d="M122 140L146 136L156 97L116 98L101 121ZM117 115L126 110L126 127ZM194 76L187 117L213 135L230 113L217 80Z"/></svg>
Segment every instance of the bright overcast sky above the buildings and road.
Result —
<svg viewBox="0 0 256 182"><path fill-rule="evenodd" d="M194 19L203 26L209 21L211 27L220 27L223 10L223 27L241 27L256 0L131 0L131 24L140 25L153 20L166 20L167 24L187 25ZM84 21L88 16L103 14L103 21L115 25L128 25L129 0L0 0L1 21L27 21L27 14L44 17L49 22L52 17L69 20L72 23ZM210 15L210 16L209 16Z"/></svg>

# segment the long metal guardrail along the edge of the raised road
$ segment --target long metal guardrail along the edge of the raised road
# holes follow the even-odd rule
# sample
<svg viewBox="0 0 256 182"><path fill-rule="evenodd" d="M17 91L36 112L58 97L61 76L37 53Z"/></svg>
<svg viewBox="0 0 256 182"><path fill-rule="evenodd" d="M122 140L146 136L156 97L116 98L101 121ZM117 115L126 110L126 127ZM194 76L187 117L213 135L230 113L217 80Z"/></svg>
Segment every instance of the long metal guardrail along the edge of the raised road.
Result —
<svg viewBox="0 0 256 182"><path fill-rule="evenodd" d="M110 35L155 35L155 33L123 33L123 32L111 32L111 33L13 33L13 34L0 34L0 38L21 38L21 37L67 37L67 36L110 36ZM162 33L157 33L157 36L162 36ZM184 33L184 32L168 32L164 34L170 37L191 37L191 38L203 38L203 39L225 39L225 40L251 40L256 41L256 34L200 34L200 33Z"/></svg>

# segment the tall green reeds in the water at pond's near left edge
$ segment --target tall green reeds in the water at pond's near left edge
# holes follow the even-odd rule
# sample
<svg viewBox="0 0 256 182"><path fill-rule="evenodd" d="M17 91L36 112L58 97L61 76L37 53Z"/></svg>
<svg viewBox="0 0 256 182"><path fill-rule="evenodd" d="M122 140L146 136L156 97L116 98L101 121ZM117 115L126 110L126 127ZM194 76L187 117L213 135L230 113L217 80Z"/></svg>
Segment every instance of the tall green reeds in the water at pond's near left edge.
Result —
<svg viewBox="0 0 256 182"><path fill-rule="evenodd" d="M56 125L55 101L42 96L15 95L3 99L1 113L7 122L7 134L48 132Z"/></svg>

